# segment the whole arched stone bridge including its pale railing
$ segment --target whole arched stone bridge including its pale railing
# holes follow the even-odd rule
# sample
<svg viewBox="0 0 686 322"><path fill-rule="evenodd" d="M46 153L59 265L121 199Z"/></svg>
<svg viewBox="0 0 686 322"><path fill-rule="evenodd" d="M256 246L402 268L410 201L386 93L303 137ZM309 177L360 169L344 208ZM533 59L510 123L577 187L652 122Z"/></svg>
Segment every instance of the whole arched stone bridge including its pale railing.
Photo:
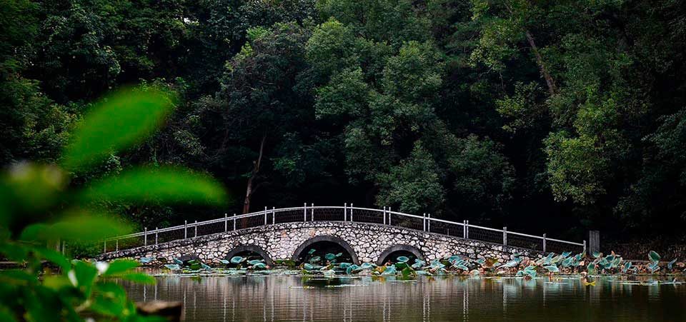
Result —
<svg viewBox="0 0 686 322"><path fill-rule="evenodd" d="M315 243L335 243L352 261L383 262L397 251L432 260L450 255L509 258L512 253L537 256L547 251L585 251L586 241L575 243L410 215L390 209L351 206L303 206L268 209L210 221L184 223L104 241L101 259L119 257L198 256L209 263L246 251L267 262L295 261Z"/></svg>

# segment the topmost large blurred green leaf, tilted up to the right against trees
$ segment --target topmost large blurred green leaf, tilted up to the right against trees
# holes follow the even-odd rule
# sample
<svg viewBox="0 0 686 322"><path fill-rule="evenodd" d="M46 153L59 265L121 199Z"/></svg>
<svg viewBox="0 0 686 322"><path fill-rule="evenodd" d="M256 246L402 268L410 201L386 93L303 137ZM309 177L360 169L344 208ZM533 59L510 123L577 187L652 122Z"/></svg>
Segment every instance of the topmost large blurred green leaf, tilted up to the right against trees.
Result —
<svg viewBox="0 0 686 322"><path fill-rule="evenodd" d="M127 89L101 99L74 131L63 166L78 171L138 144L162 125L172 103L172 95L154 89Z"/></svg>

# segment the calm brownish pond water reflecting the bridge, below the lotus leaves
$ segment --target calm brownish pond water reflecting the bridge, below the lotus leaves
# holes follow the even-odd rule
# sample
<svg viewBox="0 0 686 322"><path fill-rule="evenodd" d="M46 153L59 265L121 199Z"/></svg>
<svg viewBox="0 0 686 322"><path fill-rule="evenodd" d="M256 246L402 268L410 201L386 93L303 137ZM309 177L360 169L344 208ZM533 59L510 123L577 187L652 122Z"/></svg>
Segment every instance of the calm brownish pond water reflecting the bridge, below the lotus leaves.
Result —
<svg viewBox="0 0 686 322"><path fill-rule="evenodd" d="M124 284L135 301L182 301L187 321L686 321L686 284L618 278L419 278L372 281L301 276L158 277Z"/></svg>

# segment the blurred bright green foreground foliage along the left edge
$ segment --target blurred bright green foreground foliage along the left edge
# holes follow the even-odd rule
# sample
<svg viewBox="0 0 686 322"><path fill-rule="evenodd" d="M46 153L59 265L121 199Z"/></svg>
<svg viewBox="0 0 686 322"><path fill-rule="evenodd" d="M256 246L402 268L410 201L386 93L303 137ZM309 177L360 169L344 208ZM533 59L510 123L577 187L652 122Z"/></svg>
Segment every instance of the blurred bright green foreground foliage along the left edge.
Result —
<svg viewBox="0 0 686 322"><path fill-rule="evenodd" d="M169 114L171 95L120 91L86 114L64 152L65 164L86 170L112 149L125 149L149 135ZM119 126L119 129L110 129ZM85 189L67 189L68 176L54 165L17 163L0 181L0 253L23 269L0 271L0 311L6 321L156 321L138 316L116 280L154 283L135 271L136 261L72 260L54 251L64 243L88 243L119 236L131 227L98 203L151 198L222 204L221 186L184 169L134 168ZM43 261L49 263L44 268Z"/></svg>

